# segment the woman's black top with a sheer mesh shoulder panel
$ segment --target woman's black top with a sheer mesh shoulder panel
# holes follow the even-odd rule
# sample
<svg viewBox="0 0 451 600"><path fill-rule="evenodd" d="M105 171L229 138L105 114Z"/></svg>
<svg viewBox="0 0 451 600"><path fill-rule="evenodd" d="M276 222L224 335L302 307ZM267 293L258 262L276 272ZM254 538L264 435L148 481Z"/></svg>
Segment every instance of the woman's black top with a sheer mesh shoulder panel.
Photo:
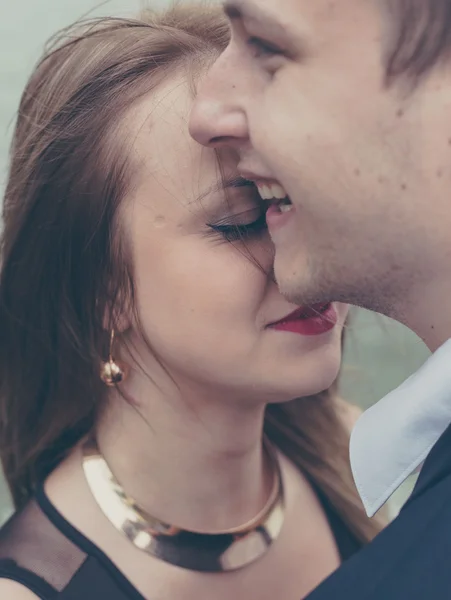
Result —
<svg viewBox="0 0 451 600"><path fill-rule="evenodd" d="M318 497L345 560L360 543L320 492ZM42 487L0 530L0 578L21 583L42 600L145 600L106 554L66 521Z"/></svg>

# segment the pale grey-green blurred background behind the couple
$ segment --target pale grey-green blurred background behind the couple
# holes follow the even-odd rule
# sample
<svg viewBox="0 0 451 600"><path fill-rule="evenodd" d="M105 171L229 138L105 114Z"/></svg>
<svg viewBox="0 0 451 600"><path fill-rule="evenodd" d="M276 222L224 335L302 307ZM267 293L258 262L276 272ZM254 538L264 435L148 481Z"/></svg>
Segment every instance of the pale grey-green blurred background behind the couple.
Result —
<svg viewBox="0 0 451 600"><path fill-rule="evenodd" d="M89 16L133 16L146 4L163 6L168 1L0 0L0 191L19 97L45 41L59 28L88 13ZM423 343L404 327L357 311L347 336L343 396L365 409L415 371L427 355ZM407 482L396 494L391 505L393 513L411 486L412 481ZM0 522L10 510L6 487L0 477Z"/></svg>

